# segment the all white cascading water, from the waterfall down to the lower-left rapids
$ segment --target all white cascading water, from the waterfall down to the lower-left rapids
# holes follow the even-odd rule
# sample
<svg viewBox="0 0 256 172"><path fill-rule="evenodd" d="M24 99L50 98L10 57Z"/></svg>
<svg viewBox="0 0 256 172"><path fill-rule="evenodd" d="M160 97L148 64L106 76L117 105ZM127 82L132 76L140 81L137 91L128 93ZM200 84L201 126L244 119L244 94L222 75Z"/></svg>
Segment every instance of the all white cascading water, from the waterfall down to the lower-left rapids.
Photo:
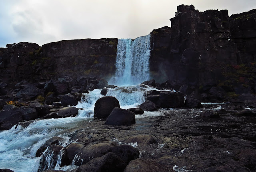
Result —
<svg viewBox="0 0 256 172"><path fill-rule="evenodd" d="M149 79L149 57L150 35L133 41L118 40L116 77L109 81L109 84L126 86L109 88L107 96L116 97L121 108L128 109L140 105L146 100L146 92L154 89L146 85L137 85ZM14 126L10 130L0 132L0 168L9 168L14 172L38 172L46 169L70 170L77 167L75 164L82 164L83 159L77 155L69 166L64 167L60 167L62 154L58 154L54 163L53 152L45 151L41 157L35 155L38 148L53 136L64 138L64 147L73 142L74 140L69 140L68 137L70 132L84 128L92 120L94 104L103 97L100 91L95 89L84 94L76 105L77 108L81 108L77 117L39 119L25 127L18 125L16 128ZM145 112L149 116L156 113ZM42 163L43 156L46 163Z"/></svg>

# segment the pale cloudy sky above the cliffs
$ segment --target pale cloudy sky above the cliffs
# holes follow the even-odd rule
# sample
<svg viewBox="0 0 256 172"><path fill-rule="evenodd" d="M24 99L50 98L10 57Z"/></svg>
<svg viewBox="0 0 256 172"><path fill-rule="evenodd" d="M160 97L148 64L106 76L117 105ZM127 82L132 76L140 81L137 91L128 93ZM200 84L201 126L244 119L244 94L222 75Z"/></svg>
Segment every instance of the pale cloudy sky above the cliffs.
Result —
<svg viewBox="0 0 256 172"><path fill-rule="evenodd" d="M132 38L170 26L180 4L228 10L256 8L256 0L0 0L0 47L60 40Z"/></svg>

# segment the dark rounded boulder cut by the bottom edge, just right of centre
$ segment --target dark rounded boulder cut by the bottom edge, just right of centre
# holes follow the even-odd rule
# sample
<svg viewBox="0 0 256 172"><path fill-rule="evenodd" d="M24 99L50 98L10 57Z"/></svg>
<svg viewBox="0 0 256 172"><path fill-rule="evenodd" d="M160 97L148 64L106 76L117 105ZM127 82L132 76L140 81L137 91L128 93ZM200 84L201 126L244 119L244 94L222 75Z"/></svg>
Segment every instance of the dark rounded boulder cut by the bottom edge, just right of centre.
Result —
<svg viewBox="0 0 256 172"><path fill-rule="evenodd" d="M124 172L170 172L170 169L163 164L140 158L132 160L125 168Z"/></svg>

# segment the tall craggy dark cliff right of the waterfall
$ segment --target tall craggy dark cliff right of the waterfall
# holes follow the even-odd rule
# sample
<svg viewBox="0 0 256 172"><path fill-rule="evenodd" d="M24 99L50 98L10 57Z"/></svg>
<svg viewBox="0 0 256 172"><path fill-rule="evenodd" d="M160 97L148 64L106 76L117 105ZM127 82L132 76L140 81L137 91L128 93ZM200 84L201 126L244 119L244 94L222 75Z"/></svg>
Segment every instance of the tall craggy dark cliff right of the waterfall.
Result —
<svg viewBox="0 0 256 172"><path fill-rule="evenodd" d="M188 86L231 94L256 93L255 10L228 16L227 10L199 12L178 6L171 28L151 32L152 78L169 79L172 87Z"/></svg>

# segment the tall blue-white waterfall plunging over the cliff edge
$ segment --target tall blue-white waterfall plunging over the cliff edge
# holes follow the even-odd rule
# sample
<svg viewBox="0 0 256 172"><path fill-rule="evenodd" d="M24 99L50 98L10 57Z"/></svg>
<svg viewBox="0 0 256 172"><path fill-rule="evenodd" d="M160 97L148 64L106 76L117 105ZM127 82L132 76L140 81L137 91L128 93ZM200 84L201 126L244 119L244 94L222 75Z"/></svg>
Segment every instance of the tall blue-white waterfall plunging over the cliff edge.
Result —
<svg viewBox="0 0 256 172"><path fill-rule="evenodd" d="M109 83L137 85L149 79L150 35L135 40L119 39L116 54L116 76Z"/></svg>

